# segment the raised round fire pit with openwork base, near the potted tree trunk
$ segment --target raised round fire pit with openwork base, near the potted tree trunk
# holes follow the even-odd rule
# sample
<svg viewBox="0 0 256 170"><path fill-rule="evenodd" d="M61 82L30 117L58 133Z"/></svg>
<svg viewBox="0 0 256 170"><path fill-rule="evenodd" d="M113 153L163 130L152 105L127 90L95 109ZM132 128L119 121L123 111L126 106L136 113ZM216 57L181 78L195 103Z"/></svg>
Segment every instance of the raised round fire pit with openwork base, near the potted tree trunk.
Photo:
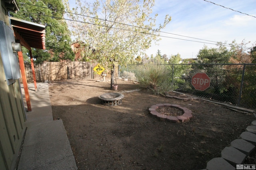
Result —
<svg viewBox="0 0 256 170"><path fill-rule="evenodd" d="M122 104L124 95L121 93L105 93L99 96L103 105L116 106Z"/></svg>

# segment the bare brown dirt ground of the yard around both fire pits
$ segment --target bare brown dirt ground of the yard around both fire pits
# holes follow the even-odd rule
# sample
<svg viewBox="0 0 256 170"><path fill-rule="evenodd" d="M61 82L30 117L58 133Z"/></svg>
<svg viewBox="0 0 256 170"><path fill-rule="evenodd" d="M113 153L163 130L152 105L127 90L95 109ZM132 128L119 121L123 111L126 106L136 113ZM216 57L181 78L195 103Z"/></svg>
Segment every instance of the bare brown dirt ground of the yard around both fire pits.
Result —
<svg viewBox="0 0 256 170"><path fill-rule="evenodd" d="M79 170L204 169L255 120L204 100L156 96L131 81L117 84L117 91L95 79L49 84L53 118L63 120ZM102 105L98 96L108 92L124 94L122 104ZM161 121L148 110L161 103L186 107L193 118ZM255 152L246 161L255 164Z"/></svg>

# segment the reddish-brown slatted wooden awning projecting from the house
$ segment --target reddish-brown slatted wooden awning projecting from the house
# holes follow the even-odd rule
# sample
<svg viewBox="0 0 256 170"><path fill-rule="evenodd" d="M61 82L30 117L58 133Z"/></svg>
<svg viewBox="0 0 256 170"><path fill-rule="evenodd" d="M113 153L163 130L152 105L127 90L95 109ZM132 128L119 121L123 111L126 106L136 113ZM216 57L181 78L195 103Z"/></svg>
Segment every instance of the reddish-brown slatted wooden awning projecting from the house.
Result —
<svg viewBox="0 0 256 170"><path fill-rule="evenodd" d="M31 50L32 48L45 50L45 26L30 21L10 17L15 39Z"/></svg>

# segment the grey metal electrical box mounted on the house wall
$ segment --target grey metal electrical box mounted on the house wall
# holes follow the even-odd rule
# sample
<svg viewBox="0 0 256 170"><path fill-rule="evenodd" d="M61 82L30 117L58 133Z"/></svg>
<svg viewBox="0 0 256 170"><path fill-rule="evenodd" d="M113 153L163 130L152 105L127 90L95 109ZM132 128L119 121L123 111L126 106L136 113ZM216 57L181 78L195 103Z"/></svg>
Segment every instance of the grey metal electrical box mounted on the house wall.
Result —
<svg viewBox="0 0 256 170"><path fill-rule="evenodd" d="M0 21L0 53L8 85L20 78L20 67L17 55L17 51L19 50L21 50L21 48L19 43L15 43L13 30L3 21Z"/></svg>

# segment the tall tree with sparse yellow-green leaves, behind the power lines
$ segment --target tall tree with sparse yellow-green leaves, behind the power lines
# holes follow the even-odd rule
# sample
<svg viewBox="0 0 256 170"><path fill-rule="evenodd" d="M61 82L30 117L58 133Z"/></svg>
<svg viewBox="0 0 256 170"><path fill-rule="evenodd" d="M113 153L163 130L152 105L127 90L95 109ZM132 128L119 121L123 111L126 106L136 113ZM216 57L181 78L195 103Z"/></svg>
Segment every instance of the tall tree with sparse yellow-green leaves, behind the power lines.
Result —
<svg viewBox="0 0 256 170"><path fill-rule="evenodd" d="M66 6L69 8L68 3ZM112 68L115 63L126 65L143 55L152 41L159 40L157 31L171 20L166 15L163 24L156 27L153 6L154 0L76 0L76 8L69 14L75 21L69 24L72 35L86 44L84 58Z"/></svg>

